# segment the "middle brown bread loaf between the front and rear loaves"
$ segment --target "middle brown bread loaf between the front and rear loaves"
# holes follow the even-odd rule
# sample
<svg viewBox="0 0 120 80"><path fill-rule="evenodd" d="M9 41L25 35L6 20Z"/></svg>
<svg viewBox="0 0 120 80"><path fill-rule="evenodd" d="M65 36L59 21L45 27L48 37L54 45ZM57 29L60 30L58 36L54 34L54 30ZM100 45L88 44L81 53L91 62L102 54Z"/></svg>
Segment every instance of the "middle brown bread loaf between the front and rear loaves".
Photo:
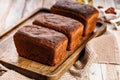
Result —
<svg viewBox="0 0 120 80"><path fill-rule="evenodd" d="M83 25L79 21L60 15L44 13L38 15L33 24L64 33L68 37L67 50L74 50L80 44Z"/></svg>

